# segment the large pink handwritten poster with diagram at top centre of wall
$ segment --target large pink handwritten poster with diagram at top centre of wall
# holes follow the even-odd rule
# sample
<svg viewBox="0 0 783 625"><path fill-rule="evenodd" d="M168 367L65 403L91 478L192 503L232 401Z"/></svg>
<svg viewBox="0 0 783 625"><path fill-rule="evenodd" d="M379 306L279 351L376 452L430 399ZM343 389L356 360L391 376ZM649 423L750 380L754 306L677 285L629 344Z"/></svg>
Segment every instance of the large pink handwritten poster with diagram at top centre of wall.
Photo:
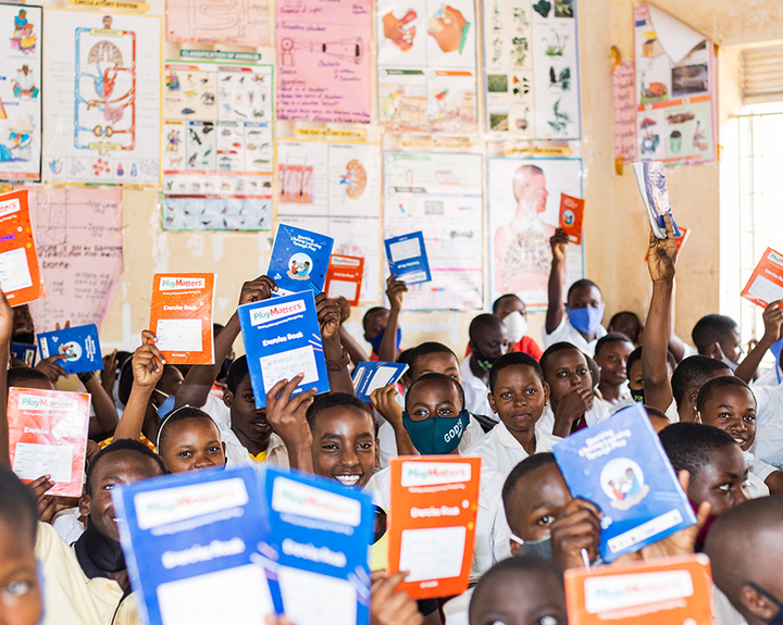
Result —
<svg viewBox="0 0 783 625"><path fill-rule="evenodd" d="M370 123L372 0L278 0L277 118Z"/></svg>

